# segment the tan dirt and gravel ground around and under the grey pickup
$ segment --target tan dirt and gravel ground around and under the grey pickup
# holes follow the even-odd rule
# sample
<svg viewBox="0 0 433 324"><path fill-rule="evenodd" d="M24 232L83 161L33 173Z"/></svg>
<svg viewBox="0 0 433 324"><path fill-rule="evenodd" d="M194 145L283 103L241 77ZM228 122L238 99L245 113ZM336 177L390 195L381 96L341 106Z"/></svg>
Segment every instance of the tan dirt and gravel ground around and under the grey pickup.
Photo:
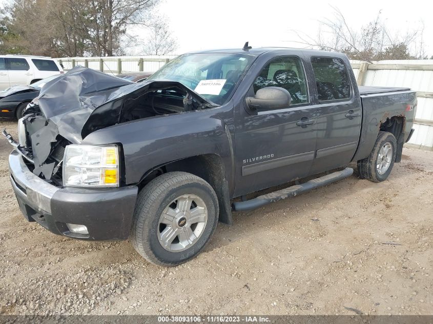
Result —
<svg viewBox="0 0 433 324"><path fill-rule="evenodd" d="M166 269L129 242L28 223L10 150L0 140L2 314L433 314L433 152L404 148L383 183L352 176L236 213L198 257Z"/></svg>

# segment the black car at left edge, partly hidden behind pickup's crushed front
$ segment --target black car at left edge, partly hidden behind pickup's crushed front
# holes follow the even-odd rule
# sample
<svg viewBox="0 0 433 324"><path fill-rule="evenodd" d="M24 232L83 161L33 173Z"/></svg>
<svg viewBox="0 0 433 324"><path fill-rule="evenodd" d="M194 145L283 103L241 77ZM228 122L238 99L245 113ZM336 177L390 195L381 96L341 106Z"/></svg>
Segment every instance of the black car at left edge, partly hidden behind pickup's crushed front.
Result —
<svg viewBox="0 0 433 324"><path fill-rule="evenodd" d="M27 104L39 95L39 91L45 83L59 75L50 76L31 85L14 85L0 91L0 117L21 118Z"/></svg>

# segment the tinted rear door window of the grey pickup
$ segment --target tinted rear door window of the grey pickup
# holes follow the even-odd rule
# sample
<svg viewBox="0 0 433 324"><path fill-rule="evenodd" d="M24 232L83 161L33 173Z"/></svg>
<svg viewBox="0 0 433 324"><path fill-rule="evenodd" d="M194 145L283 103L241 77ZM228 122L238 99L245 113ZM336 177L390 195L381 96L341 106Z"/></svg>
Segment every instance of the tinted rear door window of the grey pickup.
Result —
<svg viewBox="0 0 433 324"><path fill-rule="evenodd" d="M350 98L350 80L344 62L335 57L311 59L319 101Z"/></svg>

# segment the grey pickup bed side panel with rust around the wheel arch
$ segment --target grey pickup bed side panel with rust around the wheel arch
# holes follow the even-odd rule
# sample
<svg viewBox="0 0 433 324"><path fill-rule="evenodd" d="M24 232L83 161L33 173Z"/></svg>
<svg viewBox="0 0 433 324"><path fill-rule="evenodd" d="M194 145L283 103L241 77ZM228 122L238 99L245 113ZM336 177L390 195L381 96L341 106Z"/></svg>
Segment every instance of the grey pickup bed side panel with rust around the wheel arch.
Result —
<svg viewBox="0 0 433 324"><path fill-rule="evenodd" d="M404 117L404 139L414 124L417 105L415 91L361 95L362 126L358 149L353 161L366 158L372 152L381 123L393 116Z"/></svg>

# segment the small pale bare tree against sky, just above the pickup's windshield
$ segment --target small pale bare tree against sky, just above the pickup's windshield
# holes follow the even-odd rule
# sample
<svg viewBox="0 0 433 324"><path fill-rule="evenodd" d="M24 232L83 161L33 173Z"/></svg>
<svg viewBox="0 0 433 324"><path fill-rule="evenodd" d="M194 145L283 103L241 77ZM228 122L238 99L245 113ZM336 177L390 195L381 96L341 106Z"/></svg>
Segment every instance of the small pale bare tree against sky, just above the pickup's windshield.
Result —
<svg viewBox="0 0 433 324"><path fill-rule="evenodd" d="M156 23L150 29L151 35L143 46L146 55L166 55L178 49L177 40L172 36L166 23Z"/></svg>

